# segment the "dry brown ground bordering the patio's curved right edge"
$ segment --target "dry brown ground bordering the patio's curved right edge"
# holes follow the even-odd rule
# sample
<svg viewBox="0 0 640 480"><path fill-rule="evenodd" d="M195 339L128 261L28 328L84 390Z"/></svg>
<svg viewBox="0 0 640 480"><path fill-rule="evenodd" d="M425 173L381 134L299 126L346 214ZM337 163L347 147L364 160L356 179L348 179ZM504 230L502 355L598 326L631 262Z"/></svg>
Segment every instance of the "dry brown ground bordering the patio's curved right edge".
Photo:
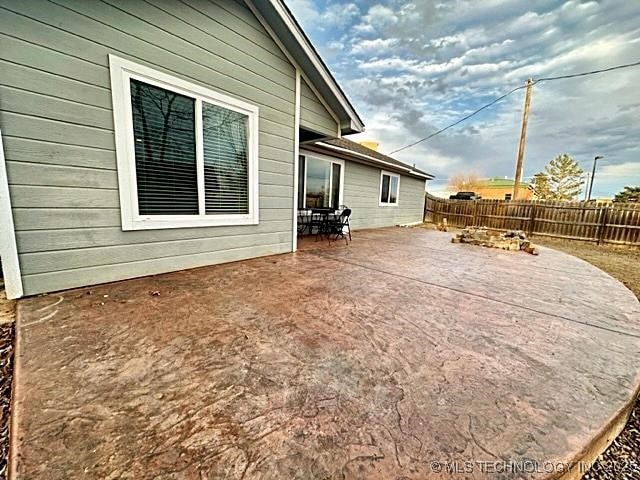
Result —
<svg viewBox="0 0 640 480"><path fill-rule="evenodd" d="M615 277L640 299L640 249L535 237L534 243L581 258ZM640 400L625 429L584 479L640 479Z"/></svg>

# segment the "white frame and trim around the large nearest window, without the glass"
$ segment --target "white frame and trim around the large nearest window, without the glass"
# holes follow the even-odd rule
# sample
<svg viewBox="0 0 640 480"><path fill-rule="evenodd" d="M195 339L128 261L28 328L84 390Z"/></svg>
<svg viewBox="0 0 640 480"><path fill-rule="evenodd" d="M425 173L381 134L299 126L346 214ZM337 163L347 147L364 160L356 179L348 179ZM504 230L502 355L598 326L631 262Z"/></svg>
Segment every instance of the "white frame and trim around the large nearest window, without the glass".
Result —
<svg viewBox="0 0 640 480"><path fill-rule="evenodd" d="M259 108L195 83L159 72L144 65L109 55L111 97L116 137L120 214L123 230L257 225L259 222L258 187L258 119ZM130 79L140 80L195 99L196 168L198 173L198 215L140 215L135 168L135 144L131 109ZM202 101L218 105L249 117L248 182L249 213L206 215L204 212L204 160L202 148Z"/></svg>

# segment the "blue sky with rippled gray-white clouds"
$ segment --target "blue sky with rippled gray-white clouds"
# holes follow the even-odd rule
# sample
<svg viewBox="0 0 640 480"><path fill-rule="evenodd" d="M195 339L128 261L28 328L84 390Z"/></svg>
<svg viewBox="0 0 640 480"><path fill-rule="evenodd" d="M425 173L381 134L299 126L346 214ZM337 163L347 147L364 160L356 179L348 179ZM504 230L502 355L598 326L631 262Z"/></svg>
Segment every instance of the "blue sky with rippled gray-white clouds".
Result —
<svg viewBox="0 0 640 480"><path fill-rule="evenodd" d="M637 0L286 0L366 133L389 153L527 78L640 61ZM398 159L434 173L513 178L524 90ZM595 196L640 185L640 67L534 87L530 177L560 153L599 162Z"/></svg>

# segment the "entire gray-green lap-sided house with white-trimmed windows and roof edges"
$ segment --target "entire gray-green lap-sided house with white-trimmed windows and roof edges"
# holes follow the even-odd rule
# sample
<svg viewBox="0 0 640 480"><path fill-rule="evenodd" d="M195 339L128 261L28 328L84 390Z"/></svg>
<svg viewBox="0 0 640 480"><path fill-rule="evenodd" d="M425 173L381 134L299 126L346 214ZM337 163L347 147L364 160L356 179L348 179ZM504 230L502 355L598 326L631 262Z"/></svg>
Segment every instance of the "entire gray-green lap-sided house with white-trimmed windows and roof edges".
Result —
<svg viewBox="0 0 640 480"><path fill-rule="evenodd" d="M295 251L301 156L354 227L421 219L428 174L332 140L362 121L281 0L186 3L3 11L10 297Z"/></svg>

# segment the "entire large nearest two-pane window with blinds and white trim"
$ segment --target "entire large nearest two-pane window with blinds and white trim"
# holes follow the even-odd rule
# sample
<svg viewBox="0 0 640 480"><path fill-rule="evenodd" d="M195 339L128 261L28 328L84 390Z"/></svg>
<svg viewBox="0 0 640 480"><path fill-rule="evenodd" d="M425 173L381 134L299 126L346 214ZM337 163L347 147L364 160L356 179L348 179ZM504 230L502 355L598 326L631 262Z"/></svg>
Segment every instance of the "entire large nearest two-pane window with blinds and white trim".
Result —
<svg viewBox="0 0 640 480"><path fill-rule="evenodd" d="M255 105L109 55L123 230L258 223Z"/></svg>

